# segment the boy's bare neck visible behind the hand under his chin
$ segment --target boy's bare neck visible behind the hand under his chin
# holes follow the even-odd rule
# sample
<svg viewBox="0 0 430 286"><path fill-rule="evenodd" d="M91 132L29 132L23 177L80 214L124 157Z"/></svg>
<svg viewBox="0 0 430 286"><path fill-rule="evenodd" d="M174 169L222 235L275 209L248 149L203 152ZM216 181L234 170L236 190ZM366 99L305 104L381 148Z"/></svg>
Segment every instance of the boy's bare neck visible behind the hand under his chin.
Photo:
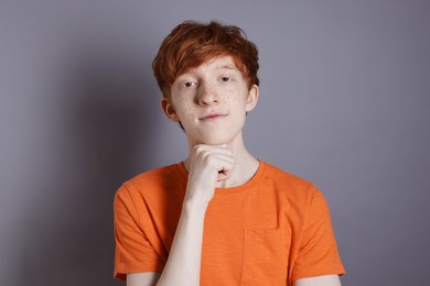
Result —
<svg viewBox="0 0 430 286"><path fill-rule="evenodd" d="M189 142L190 143L190 142ZM197 143L190 143L190 154ZM228 188L244 185L247 183L257 172L259 162L255 158L245 147L243 138L239 135L236 140L227 144L227 147L232 151L235 160L235 166L232 170L232 176L223 182L217 183L218 188ZM189 156L184 166L190 170L192 156Z"/></svg>

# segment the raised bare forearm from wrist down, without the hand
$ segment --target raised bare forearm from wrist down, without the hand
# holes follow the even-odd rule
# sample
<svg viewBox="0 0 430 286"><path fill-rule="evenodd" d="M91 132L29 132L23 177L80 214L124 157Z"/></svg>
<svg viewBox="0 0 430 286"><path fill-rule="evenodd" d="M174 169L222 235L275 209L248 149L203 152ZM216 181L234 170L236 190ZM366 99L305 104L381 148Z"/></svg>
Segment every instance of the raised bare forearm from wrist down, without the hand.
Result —
<svg viewBox="0 0 430 286"><path fill-rule="evenodd" d="M200 285L203 224L207 206L185 202L158 286Z"/></svg>

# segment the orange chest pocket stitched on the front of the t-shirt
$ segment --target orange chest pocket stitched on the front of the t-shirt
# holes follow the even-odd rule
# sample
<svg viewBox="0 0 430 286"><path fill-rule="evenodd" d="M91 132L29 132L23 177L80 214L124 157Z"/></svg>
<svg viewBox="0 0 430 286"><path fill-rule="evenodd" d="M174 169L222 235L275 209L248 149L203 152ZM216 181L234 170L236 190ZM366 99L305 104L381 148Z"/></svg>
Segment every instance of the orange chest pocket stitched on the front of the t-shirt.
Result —
<svg viewBox="0 0 430 286"><path fill-rule="evenodd" d="M290 234L286 229L244 232L240 285L286 285Z"/></svg>

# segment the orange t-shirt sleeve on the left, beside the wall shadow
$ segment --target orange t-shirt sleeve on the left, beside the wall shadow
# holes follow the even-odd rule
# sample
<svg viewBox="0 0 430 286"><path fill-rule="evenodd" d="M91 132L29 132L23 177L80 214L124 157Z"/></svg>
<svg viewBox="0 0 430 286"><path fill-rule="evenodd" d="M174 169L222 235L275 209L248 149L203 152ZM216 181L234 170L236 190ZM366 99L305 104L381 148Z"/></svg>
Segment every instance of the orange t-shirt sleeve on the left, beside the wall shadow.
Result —
<svg viewBox="0 0 430 286"><path fill-rule="evenodd" d="M114 277L126 280L128 273L161 272L163 264L147 239L130 189L122 185L114 200Z"/></svg>

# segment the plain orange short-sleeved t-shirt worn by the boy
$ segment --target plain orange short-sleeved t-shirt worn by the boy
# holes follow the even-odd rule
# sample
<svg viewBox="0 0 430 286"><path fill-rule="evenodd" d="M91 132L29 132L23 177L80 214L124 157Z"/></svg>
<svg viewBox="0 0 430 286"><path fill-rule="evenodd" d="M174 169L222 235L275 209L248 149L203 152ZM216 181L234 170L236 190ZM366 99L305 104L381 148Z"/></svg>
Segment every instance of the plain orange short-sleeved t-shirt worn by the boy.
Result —
<svg viewBox="0 0 430 286"><path fill-rule="evenodd" d="M115 277L162 272L181 215L182 163L126 182L115 197ZM329 208L314 185L260 162L255 176L217 188L205 215L201 285L291 285L343 274Z"/></svg>

